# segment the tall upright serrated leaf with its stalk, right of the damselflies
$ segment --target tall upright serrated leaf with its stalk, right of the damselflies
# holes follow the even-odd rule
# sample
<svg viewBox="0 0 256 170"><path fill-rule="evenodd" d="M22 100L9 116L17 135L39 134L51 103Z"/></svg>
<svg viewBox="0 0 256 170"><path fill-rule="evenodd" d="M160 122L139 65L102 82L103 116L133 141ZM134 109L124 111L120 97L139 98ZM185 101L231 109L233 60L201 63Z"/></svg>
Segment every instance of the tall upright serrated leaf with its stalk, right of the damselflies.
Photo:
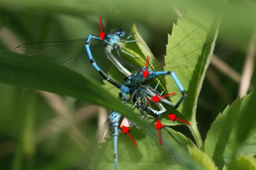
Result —
<svg viewBox="0 0 256 170"><path fill-rule="evenodd" d="M186 121L198 147L203 150L203 142L197 129L197 98L202 87L204 75L211 60L217 38L219 17L200 15L189 11L177 20L172 35L168 37L165 70L174 71L186 90L187 97L177 109ZM168 93L179 89L170 76L166 76ZM171 97L177 103L181 94Z"/></svg>

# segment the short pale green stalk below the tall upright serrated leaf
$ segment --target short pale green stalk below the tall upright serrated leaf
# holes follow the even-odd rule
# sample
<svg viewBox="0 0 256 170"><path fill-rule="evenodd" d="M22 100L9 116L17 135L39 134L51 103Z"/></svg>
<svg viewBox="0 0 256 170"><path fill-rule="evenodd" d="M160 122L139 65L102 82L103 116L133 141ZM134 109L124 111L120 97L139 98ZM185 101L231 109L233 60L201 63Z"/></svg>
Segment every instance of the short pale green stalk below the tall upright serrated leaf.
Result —
<svg viewBox="0 0 256 170"><path fill-rule="evenodd" d="M197 147L201 151L204 151L204 143L203 143L202 137L198 131L196 119L192 119L192 121L190 123L191 124L188 127L197 143Z"/></svg>

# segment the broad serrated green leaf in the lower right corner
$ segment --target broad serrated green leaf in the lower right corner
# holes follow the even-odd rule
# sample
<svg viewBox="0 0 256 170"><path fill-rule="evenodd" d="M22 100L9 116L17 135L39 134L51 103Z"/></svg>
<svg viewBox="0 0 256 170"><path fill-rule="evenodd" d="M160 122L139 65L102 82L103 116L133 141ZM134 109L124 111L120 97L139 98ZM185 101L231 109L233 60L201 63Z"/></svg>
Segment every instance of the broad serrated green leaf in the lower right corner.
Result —
<svg viewBox="0 0 256 170"><path fill-rule="evenodd" d="M248 107L251 107L250 112L248 112ZM235 153L237 156L256 155L256 126L254 123L250 124L251 122L244 121L244 119L254 119L253 121L255 121L254 111L255 94L251 93L242 99L236 99L213 122L206 136L205 152L219 168L229 164ZM250 128L241 130L242 126ZM248 129L248 132L245 132L245 129ZM244 136L241 133L249 134Z"/></svg>

